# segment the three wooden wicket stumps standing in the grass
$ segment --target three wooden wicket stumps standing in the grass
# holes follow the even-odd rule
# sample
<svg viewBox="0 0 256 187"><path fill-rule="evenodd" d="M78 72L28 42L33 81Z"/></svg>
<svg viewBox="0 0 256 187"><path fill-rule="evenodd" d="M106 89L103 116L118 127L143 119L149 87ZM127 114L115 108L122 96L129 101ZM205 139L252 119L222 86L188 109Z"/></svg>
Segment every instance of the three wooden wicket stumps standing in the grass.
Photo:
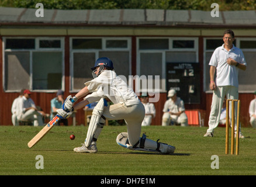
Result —
<svg viewBox="0 0 256 187"><path fill-rule="evenodd" d="M229 102L231 101L231 153L234 154L234 119L235 119L235 102L237 102L237 137L236 137L236 155L239 151L239 126L240 126L240 100L227 99L226 101L226 154L229 154Z"/></svg>

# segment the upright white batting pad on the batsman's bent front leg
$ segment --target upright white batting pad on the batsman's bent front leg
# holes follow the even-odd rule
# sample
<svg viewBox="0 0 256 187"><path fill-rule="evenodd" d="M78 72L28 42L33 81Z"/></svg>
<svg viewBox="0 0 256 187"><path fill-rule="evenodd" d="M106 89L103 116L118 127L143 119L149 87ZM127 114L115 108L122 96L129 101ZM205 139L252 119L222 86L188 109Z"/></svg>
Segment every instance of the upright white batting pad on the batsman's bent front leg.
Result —
<svg viewBox="0 0 256 187"><path fill-rule="evenodd" d="M88 131L87 131L87 138L85 140L85 146L89 147L91 144L92 138L98 128L99 120L101 119L101 115L103 113L104 108L104 100L101 98L97 105L95 106L94 110L92 110L92 117L89 123Z"/></svg>

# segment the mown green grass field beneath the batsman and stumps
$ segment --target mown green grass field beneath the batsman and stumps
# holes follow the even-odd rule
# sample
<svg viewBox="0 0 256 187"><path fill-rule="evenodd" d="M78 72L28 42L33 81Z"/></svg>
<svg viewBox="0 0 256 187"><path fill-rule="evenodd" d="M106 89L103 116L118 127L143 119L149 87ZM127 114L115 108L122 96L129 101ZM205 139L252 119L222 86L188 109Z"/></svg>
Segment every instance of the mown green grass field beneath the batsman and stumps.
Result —
<svg viewBox="0 0 256 187"><path fill-rule="evenodd" d="M116 143L126 126L105 126L98 140L98 153L74 153L85 139L84 126L56 126L32 148L27 143L42 127L0 126L0 175L256 175L256 129L243 128L239 155L225 155L225 128L215 137L203 137L206 127L142 127L152 140L176 147L173 155L131 151ZM70 135L75 134L75 140ZM36 169L37 155L43 169ZM219 169L212 169L212 155ZM215 164L215 166L217 166Z"/></svg>

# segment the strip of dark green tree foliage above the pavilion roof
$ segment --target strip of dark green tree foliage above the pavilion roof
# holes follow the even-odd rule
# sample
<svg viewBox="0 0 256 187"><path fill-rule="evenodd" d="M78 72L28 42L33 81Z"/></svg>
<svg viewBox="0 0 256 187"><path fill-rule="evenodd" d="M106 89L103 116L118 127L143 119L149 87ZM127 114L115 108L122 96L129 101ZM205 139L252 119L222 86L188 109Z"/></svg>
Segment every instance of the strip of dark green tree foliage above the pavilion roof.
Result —
<svg viewBox="0 0 256 187"><path fill-rule="evenodd" d="M213 1L205 0L0 0L0 6L45 9L184 9L211 11ZM219 0L220 11L255 10L256 0Z"/></svg>

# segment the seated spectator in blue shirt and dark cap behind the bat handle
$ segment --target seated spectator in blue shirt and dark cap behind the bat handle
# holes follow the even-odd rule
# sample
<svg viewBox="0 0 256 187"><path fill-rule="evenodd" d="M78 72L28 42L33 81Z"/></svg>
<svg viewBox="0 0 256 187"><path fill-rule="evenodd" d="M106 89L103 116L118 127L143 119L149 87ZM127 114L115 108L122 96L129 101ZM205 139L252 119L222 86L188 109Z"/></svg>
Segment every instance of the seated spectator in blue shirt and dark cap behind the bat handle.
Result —
<svg viewBox="0 0 256 187"><path fill-rule="evenodd" d="M56 94L56 98L51 99L51 116L53 119L57 115L57 110L62 108L64 103L64 92L60 89ZM68 126L68 119L61 119L58 124L63 123L64 126Z"/></svg>

